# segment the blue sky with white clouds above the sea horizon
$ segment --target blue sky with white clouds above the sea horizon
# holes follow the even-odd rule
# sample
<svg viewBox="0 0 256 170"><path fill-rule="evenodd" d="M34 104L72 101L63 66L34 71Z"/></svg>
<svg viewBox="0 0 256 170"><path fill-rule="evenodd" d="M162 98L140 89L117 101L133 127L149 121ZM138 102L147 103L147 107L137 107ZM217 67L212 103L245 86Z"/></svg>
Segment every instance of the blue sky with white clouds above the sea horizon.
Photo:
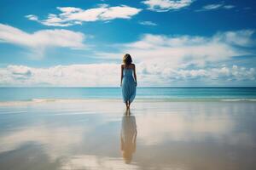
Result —
<svg viewBox="0 0 256 170"><path fill-rule="evenodd" d="M0 0L0 87L255 87L256 1Z"/></svg>

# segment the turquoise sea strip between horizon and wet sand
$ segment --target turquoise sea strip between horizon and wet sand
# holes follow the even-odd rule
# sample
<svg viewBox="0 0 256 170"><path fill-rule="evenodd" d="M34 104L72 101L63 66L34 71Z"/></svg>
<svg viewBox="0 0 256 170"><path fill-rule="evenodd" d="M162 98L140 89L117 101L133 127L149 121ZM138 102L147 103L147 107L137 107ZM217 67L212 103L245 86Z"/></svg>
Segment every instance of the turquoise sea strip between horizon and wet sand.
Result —
<svg viewBox="0 0 256 170"><path fill-rule="evenodd" d="M0 101L33 99L121 99L121 88L0 88ZM256 88L137 88L136 99L256 101Z"/></svg>

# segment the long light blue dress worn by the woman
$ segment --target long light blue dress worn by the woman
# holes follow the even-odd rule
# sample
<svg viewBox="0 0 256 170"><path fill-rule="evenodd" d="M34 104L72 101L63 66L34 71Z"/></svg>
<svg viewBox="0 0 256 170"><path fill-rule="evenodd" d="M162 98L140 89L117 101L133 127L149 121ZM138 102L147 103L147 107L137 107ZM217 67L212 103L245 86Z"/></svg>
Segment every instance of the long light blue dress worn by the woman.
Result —
<svg viewBox="0 0 256 170"><path fill-rule="evenodd" d="M136 95L136 82L134 81L132 73L133 69L124 68L124 75L122 81L122 94L124 102L132 102Z"/></svg>

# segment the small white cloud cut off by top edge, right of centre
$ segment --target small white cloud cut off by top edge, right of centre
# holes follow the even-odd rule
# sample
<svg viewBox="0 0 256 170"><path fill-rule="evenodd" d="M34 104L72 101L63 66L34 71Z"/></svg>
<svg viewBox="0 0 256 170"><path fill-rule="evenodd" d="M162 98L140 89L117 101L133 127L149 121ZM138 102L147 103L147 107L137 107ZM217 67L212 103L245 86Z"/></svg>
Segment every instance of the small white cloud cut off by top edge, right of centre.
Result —
<svg viewBox="0 0 256 170"><path fill-rule="evenodd" d="M193 0L146 0L144 4L148 5L149 10L156 12L166 12L173 9L188 7Z"/></svg>

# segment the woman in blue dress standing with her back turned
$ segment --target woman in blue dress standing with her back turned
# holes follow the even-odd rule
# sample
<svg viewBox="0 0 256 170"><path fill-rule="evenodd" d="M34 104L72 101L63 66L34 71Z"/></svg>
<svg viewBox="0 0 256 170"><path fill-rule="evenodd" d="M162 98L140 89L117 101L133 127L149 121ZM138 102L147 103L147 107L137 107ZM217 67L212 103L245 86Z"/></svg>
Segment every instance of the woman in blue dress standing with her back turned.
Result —
<svg viewBox="0 0 256 170"><path fill-rule="evenodd" d="M135 98L136 87L137 87L137 76L135 71L135 65L132 64L132 59L130 54L125 54L123 58L123 65L121 65L121 84L120 85L122 87L123 100L126 105L126 110L129 110L131 102Z"/></svg>

